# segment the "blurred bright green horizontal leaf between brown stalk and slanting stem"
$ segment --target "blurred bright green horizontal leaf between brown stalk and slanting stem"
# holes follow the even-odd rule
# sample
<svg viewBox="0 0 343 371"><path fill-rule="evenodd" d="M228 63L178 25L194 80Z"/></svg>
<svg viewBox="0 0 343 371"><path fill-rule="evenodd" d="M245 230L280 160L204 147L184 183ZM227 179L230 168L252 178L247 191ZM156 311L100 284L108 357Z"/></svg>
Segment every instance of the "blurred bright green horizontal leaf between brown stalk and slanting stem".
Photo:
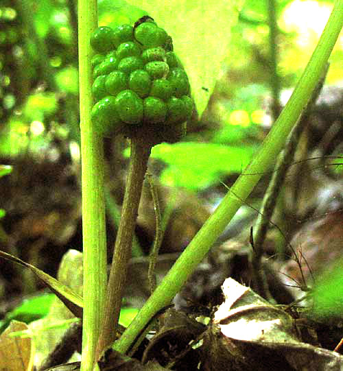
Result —
<svg viewBox="0 0 343 371"><path fill-rule="evenodd" d="M220 181L224 174L240 173L255 153L255 145L226 146L213 143L163 143L152 149L152 158L169 165L161 181L198 190Z"/></svg>

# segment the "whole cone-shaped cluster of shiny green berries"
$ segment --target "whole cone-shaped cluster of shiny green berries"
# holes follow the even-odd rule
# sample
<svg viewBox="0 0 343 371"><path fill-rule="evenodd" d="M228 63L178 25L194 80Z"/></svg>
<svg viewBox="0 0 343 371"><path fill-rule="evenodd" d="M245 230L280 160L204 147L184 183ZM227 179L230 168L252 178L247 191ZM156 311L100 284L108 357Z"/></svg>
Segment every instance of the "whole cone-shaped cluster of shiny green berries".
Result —
<svg viewBox="0 0 343 371"><path fill-rule="evenodd" d="M91 35L93 125L108 134L132 125L180 128L193 112L187 74L171 37L148 16L131 25L99 27ZM160 135L161 136L161 135Z"/></svg>

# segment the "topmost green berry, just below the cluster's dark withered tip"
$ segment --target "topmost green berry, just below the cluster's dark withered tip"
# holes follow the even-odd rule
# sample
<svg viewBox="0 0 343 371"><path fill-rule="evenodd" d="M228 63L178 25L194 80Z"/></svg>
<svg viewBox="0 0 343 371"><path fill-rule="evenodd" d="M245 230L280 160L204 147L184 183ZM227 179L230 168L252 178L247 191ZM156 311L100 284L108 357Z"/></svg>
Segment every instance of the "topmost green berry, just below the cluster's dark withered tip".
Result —
<svg viewBox="0 0 343 371"><path fill-rule="evenodd" d="M155 23L145 22L134 29L134 38L145 49L148 49L165 45L168 35L163 28L157 27Z"/></svg>

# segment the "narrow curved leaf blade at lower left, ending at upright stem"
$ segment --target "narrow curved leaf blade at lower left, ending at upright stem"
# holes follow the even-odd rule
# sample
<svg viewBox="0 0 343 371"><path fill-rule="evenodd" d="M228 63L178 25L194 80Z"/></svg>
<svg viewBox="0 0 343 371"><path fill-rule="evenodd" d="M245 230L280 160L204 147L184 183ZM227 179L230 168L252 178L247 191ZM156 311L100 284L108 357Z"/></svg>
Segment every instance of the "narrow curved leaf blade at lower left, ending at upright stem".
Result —
<svg viewBox="0 0 343 371"><path fill-rule="evenodd" d="M25 263L25 261L22 261L21 259L17 258L16 256L13 256L11 254L8 254L7 252L0 251L0 256L3 259L7 259L10 261L13 261L14 263L18 263L20 265L23 265L24 267L29 268L40 280L43 280L43 282L51 289L51 291L64 302L66 307L78 318L82 318L82 307L83 307L83 300L82 297L78 294L75 294L69 287L63 285L60 283L56 278L49 276L49 274L43 272L42 270L38 270L38 268L34 267L34 265L31 265L29 263Z"/></svg>

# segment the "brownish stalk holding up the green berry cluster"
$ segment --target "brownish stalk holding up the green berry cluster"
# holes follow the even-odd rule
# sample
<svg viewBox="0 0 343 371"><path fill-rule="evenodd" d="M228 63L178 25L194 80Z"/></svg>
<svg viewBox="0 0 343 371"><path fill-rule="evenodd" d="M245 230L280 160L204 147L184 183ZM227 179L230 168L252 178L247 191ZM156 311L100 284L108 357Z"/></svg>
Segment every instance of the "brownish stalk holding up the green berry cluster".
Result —
<svg viewBox="0 0 343 371"><path fill-rule="evenodd" d="M131 140L130 165L126 180L126 191L121 209L121 219L115 241L115 252L108 279L106 309L102 333L97 346L97 357L115 341L116 327L121 308L123 288L126 284L126 271L131 257L132 238L136 224L143 180L147 170L147 160L151 145L137 133Z"/></svg>

